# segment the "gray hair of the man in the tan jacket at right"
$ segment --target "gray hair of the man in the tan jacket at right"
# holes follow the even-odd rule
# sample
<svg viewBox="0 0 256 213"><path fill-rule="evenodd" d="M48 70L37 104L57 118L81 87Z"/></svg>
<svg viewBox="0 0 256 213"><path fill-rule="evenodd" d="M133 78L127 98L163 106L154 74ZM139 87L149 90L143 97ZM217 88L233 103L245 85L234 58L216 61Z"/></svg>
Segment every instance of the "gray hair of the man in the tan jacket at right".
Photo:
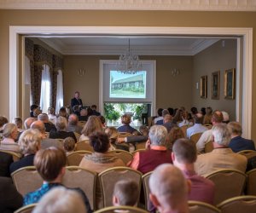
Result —
<svg viewBox="0 0 256 213"><path fill-rule="evenodd" d="M217 124L212 128L214 142L223 147L229 147L231 134L227 124Z"/></svg>

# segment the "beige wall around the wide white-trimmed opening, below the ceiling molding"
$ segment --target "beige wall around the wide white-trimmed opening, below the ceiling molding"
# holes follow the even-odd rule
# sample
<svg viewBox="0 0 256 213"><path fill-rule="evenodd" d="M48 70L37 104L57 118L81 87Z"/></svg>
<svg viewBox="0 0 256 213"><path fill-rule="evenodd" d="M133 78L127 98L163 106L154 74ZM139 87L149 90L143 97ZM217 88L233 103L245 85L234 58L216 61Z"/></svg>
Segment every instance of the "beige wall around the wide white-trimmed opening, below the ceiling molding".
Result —
<svg viewBox="0 0 256 213"><path fill-rule="evenodd" d="M0 10L0 114L9 116L9 26L192 26L256 28L255 12ZM256 34L253 34L253 73ZM253 74L253 82L256 75ZM253 120L256 119L253 85ZM253 130L256 124L252 124ZM256 140L256 132L252 131Z"/></svg>

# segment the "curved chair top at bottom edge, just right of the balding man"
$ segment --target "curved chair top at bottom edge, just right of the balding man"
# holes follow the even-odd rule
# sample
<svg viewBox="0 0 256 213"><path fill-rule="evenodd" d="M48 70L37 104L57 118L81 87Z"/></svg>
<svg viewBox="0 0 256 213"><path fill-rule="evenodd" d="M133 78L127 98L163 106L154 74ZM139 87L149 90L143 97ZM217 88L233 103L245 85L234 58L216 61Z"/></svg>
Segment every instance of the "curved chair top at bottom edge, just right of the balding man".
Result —
<svg viewBox="0 0 256 213"><path fill-rule="evenodd" d="M220 213L220 210L212 204L201 201L189 200L189 213Z"/></svg>

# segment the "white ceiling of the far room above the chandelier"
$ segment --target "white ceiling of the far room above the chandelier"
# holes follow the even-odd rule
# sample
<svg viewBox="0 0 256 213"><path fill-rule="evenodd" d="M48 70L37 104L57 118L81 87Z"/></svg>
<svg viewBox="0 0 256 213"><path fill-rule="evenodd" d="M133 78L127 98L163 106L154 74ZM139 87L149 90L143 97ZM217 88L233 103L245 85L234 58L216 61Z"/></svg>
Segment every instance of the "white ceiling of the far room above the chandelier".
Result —
<svg viewBox="0 0 256 213"><path fill-rule="evenodd" d="M62 55L119 55L128 49L137 55L195 55L218 38L198 37L39 37Z"/></svg>

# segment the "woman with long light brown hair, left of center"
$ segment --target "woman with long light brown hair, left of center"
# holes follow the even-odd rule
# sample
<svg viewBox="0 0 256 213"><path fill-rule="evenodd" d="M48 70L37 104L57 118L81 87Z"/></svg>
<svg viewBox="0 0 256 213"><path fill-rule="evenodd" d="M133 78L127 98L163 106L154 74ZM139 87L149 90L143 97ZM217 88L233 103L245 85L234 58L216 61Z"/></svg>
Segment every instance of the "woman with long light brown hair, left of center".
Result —
<svg viewBox="0 0 256 213"><path fill-rule="evenodd" d="M96 131L103 131L102 122L98 116L91 115L81 131L79 141L89 142L89 136Z"/></svg>

